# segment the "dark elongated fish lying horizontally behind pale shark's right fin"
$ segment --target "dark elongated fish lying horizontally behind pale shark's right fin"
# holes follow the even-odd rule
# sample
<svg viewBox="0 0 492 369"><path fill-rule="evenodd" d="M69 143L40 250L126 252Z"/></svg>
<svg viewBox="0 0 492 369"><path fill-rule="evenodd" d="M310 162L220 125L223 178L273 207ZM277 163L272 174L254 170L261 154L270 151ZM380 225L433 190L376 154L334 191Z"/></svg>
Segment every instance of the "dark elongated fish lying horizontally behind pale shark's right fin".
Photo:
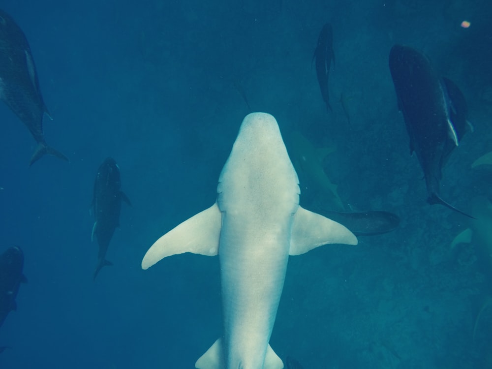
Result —
<svg viewBox="0 0 492 369"><path fill-rule="evenodd" d="M389 212L332 212L320 214L343 224L356 236L374 236L395 230L400 217Z"/></svg>

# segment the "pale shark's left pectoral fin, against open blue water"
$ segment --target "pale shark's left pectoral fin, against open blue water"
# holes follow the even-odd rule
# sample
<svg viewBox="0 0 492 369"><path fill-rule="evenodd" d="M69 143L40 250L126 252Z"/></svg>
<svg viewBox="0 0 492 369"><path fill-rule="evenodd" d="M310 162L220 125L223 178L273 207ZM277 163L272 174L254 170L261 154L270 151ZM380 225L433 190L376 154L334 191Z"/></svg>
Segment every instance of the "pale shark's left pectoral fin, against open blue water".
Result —
<svg viewBox="0 0 492 369"><path fill-rule="evenodd" d="M147 250L142 260L142 269L152 267L166 256L184 252L206 256L217 255L221 226L222 213L215 203L159 238Z"/></svg>

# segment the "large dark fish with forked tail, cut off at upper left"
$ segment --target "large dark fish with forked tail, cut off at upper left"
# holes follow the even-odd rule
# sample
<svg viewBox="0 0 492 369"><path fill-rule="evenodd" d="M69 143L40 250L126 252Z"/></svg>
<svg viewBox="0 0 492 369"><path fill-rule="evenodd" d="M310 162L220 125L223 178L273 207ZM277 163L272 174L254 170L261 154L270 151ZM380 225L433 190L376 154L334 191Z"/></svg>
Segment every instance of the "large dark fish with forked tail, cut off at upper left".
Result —
<svg viewBox="0 0 492 369"><path fill-rule="evenodd" d="M31 48L24 32L0 10L0 100L28 127L38 143L30 165L44 154L68 158L46 144L43 116L48 110L43 101ZM49 115L49 114L48 114Z"/></svg>

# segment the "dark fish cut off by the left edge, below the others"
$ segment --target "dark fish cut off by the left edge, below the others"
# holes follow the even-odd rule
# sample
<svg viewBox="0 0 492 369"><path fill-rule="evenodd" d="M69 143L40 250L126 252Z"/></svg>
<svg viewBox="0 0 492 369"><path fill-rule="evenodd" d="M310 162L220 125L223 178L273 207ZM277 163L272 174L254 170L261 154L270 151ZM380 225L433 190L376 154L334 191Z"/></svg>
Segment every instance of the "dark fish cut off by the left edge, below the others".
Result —
<svg viewBox="0 0 492 369"><path fill-rule="evenodd" d="M18 246L9 247L0 255L0 326L10 310L17 310L19 286L27 282L23 267L24 254Z"/></svg>

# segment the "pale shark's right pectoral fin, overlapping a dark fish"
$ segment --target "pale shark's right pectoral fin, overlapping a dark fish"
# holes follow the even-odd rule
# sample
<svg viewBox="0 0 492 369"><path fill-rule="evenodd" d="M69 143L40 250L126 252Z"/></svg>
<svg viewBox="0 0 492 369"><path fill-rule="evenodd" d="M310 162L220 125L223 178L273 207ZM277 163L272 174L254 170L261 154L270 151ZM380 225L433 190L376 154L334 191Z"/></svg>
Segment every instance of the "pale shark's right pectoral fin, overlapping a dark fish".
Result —
<svg viewBox="0 0 492 369"><path fill-rule="evenodd" d="M326 244L357 245L357 237L340 223L299 206L294 215L289 254L304 254Z"/></svg>

